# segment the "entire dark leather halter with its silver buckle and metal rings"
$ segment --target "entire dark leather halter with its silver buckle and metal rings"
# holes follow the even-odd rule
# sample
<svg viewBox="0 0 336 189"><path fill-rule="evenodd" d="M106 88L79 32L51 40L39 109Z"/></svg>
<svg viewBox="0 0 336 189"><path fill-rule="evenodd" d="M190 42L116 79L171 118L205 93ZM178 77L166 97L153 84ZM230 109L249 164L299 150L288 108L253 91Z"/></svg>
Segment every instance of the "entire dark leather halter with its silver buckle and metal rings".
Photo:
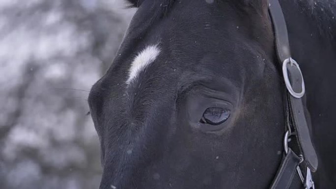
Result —
<svg viewBox="0 0 336 189"><path fill-rule="evenodd" d="M270 0L269 13L275 31L276 51L286 85L284 158L270 189L288 189L293 182L295 172L298 173L305 189L315 189L310 171L317 170L318 161L302 103L302 97L305 94L304 79L298 63L290 55L287 27L279 0ZM288 147L288 139L291 136L296 138L297 145L293 148L298 149L296 151L301 154L299 156Z"/></svg>

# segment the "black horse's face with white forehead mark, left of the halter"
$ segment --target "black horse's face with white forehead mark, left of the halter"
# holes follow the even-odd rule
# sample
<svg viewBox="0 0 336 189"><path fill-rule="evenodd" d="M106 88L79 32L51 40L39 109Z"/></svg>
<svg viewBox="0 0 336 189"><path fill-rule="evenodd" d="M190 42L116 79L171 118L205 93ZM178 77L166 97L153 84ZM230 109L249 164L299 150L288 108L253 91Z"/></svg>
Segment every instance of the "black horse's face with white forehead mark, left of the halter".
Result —
<svg viewBox="0 0 336 189"><path fill-rule="evenodd" d="M89 96L100 189L268 188L285 125L268 0L133 1Z"/></svg>

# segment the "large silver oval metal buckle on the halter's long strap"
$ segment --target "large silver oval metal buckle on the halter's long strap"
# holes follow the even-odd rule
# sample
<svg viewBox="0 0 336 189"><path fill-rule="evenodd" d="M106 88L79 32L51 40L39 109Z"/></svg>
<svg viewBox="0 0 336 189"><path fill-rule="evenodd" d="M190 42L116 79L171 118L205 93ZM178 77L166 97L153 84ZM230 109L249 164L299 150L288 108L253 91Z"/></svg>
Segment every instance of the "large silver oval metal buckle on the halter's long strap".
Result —
<svg viewBox="0 0 336 189"><path fill-rule="evenodd" d="M300 71L301 74L301 78L302 78L302 91L300 93L297 93L293 90L292 85L289 81L289 77L288 77L288 70L287 70L287 64L290 63L291 66L296 66L298 68L298 70ZM283 79L285 81L286 87L288 92L295 98L301 98L305 95L306 89L305 89L305 82L303 79L303 75L301 72L301 69L299 67L299 64L292 58L287 58L283 61L282 63L282 74L283 74Z"/></svg>

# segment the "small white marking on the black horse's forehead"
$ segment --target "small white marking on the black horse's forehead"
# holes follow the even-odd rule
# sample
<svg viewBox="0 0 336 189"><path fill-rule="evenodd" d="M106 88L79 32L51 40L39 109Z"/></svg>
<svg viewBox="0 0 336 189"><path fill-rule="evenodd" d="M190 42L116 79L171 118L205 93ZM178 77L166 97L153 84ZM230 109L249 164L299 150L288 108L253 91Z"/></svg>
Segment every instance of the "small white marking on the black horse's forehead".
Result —
<svg viewBox="0 0 336 189"><path fill-rule="evenodd" d="M134 80L146 66L154 62L156 57L160 54L160 49L157 45L150 45L142 50L133 60L129 71L129 78L126 81L129 84Z"/></svg>

